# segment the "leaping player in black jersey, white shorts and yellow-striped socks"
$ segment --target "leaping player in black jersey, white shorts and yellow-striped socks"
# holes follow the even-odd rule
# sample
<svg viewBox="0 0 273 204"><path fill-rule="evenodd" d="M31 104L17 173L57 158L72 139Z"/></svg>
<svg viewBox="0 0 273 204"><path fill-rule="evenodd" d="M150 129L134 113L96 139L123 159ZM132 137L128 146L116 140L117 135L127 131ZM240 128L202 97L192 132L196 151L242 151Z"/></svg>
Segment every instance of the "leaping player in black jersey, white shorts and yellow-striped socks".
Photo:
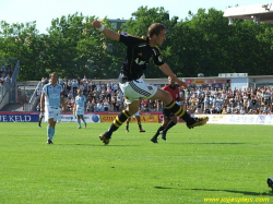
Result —
<svg viewBox="0 0 273 204"><path fill-rule="evenodd" d="M159 69L168 76L170 76L179 86L187 88L187 84L176 77L171 69L163 61L159 49L164 40L166 40L166 28L161 23L154 23L149 27L147 36L140 38L127 35L124 33L118 34L111 29L106 28L99 21L93 21L92 25L102 32L107 38L121 41L127 46L127 56L121 67L119 75L119 86L126 97L128 108L122 110L112 121L110 128L99 139L104 144L108 144L112 132L132 115L134 115L140 107L139 99L159 99L166 108L176 116L182 118L187 122L187 127L192 129L194 127L203 125L207 122L206 118L191 118L190 115L179 105L177 105L170 94L163 89L157 89L156 86L147 84L141 79L143 71L147 68L149 61L159 67Z"/></svg>

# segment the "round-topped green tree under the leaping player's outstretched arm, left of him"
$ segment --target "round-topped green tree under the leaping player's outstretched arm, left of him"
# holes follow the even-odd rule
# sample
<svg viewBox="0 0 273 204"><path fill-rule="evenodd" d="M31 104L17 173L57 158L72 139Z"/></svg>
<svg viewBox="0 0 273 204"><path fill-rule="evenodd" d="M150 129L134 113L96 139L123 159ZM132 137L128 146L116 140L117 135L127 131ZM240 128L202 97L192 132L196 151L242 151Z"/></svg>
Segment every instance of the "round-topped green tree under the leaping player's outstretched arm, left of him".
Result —
<svg viewBox="0 0 273 204"><path fill-rule="evenodd" d="M109 75L111 58L105 37L91 23L94 16L84 17L78 13L56 19L48 29L47 52L44 61L47 70L56 70L68 77L104 79Z"/></svg>

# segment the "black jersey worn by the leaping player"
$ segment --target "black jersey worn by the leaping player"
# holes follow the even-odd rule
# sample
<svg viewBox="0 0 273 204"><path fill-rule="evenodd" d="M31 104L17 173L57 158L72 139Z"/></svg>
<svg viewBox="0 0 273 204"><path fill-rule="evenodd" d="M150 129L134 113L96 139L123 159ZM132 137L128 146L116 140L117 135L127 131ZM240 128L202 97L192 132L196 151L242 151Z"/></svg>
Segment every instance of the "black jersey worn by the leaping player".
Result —
<svg viewBox="0 0 273 204"><path fill-rule="evenodd" d="M133 37L120 34L120 41L127 46L127 56L121 67L121 75L128 81L138 80L142 76L143 70L147 68L149 61L156 65L164 64L159 49L149 45L147 37Z"/></svg>

